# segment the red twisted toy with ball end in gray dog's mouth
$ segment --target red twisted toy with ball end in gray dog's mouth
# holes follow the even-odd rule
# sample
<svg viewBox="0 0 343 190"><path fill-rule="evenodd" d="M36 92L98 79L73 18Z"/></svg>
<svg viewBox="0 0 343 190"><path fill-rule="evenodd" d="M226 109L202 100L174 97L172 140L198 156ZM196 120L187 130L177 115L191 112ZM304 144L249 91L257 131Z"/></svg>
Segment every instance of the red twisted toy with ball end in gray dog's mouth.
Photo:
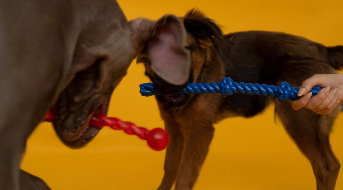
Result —
<svg viewBox="0 0 343 190"><path fill-rule="evenodd" d="M55 116L52 111L48 112L45 116L45 121L47 122L52 122L54 119ZM99 128L108 126L114 130L123 130L129 135L136 135L140 139L146 140L149 147L156 151L165 149L169 144L168 132L161 128L154 128L149 131L144 127L137 127L131 122L123 122L118 118L107 117L102 113L94 113L89 124Z"/></svg>

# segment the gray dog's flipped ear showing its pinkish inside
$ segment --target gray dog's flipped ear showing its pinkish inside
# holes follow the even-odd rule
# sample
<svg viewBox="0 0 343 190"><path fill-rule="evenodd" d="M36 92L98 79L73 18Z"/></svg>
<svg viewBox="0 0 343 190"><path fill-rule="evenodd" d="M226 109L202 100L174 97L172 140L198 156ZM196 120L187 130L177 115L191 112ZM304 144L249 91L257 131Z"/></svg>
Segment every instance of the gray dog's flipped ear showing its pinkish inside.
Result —
<svg viewBox="0 0 343 190"><path fill-rule="evenodd" d="M180 18L165 15L157 21L130 21L137 43L159 77L174 85L185 84L190 72L190 54L185 48L186 29Z"/></svg>

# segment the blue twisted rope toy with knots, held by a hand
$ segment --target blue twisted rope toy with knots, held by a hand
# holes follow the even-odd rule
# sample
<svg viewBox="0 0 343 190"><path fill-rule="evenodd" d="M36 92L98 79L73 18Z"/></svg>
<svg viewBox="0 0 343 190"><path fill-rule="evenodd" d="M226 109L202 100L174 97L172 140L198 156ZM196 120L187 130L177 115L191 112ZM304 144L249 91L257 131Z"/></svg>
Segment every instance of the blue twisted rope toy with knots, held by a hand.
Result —
<svg viewBox="0 0 343 190"><path fill-rule="evenodd" d="M139 85L142 96L160 95L161 92L155 90L153 83L144 83ZM317 95L322 88L315 86L311 89L312 97ZM282 82L280 86L266 85L266 84L251 84L251 83L236 83L230 77L223 78L219 83L189 83L182 91L187 94L200 93L221 93L223 96L238 94L252 94L275 97L279 101L296 100L299 87L292 87L287 82Z"/></svg>

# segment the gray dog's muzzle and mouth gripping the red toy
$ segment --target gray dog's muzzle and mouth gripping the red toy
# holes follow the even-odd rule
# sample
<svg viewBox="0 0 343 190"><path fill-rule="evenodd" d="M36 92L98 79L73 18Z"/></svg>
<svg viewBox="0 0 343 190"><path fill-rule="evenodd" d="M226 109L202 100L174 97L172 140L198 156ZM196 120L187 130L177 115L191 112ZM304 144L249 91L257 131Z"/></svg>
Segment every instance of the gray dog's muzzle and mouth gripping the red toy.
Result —
<svg viewBox="0 0 343 190"><path fill-rule="evenodd" d="M84 147L101 129L89 124L92 115L94 113L106 114L107 109L108 99L104 98L100 105L90 109L86 114L85 112L59 114L57 111L55 121L53 122L57 135L70 148L77 149Z"/></svg>

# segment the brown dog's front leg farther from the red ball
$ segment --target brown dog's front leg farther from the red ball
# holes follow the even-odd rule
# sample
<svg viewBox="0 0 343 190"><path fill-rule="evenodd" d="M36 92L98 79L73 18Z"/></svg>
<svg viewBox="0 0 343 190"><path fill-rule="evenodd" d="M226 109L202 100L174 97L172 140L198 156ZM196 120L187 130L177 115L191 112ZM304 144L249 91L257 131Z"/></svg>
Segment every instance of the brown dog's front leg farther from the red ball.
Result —
<svg viewBox="0 0 343 190"><path fill-rule="evenodd" d="M181 128L185 142L182 150L181 165L176 180L176 190L192 189L196 182L201 166L209 151L213 138L212 125L197 123Z"/></svg>

